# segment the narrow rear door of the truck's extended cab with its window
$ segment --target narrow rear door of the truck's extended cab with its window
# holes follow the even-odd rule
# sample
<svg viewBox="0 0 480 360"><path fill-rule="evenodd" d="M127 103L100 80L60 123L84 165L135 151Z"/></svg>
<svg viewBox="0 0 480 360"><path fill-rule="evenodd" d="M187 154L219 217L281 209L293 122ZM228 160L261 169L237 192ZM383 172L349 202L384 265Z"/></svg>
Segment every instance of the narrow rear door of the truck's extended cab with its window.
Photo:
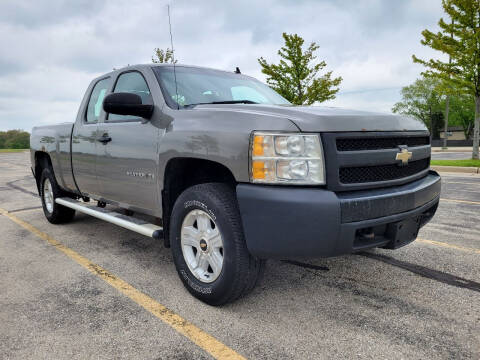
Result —
<svg viewBox="0 0 480 360"><path fill-rule="evenodd" d="M110 90L111 78L97 80L89 88L85 108L80 110L73 127L72 169L80 191L85 195L97 196L100 193L96 174L97 148L99 146L98 124L105 117L103 98Z"/></svg>

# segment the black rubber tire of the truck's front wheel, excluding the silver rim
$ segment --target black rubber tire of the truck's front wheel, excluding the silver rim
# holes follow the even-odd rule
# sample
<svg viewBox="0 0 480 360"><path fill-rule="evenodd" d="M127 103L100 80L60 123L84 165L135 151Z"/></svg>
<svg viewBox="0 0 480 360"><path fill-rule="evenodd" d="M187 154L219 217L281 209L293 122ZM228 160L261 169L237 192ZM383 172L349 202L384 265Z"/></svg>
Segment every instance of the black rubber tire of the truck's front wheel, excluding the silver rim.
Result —
<svg viewBox="0 0 480 360"><path fill-rule="evenodd" d="M218 278L205 283L190 271L181 246L181 228L192 210L215 219L223 240L223 266ZM234 190L226 184L208 183L185 190L175 202L170 218L170 244L177 272L188 291L210 305L233 302L250 292L259 281L265 261L250 255Z"/></svg>

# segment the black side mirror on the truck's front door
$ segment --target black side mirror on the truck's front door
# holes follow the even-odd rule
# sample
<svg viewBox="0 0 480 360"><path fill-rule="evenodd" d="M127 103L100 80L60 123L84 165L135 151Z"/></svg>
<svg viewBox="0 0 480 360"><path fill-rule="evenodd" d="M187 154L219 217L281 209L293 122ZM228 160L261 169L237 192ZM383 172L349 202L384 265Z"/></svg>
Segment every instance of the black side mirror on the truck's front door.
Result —
<svg viewBox="0 0 480 360"><path fill-rule="evenodd" d="M150 119L153 105L142 104L142 98L132 93L112 93L105 96L103 110L117 115L134 115Z"/></svg>

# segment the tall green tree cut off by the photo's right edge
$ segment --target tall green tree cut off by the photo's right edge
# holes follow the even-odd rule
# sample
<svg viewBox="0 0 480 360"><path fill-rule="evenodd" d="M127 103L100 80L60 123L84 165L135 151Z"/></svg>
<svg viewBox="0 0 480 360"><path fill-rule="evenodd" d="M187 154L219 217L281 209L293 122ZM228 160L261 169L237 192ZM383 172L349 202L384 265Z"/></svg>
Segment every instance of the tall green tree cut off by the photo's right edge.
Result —
<svg viewBox="0 0 480 360"><path fill-rule="evenodd" d="M425 75L435 76L475 98L475 123L472 158L479 158L480 135L480 1L442 0L449 22L440 19L440 31L422 31L422 44L449 57L422 60L413 55L413 61L423 64Z"/></svg>

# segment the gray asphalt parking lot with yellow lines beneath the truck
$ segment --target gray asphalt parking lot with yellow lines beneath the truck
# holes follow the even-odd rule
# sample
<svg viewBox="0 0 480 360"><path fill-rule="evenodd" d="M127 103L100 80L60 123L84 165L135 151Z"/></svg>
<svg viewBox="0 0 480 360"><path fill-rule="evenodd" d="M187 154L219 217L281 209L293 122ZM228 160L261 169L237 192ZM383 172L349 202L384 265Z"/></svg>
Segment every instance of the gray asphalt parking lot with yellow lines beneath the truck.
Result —
<svg viewBox="0 0 480 360"><path fill-rule="evenodd" d="M29 166L0 154L1 358L480 358L479 175L443 174L414 243L269 261L251 295L214 308L160 242L83 214L49 224Z"/></svg>

